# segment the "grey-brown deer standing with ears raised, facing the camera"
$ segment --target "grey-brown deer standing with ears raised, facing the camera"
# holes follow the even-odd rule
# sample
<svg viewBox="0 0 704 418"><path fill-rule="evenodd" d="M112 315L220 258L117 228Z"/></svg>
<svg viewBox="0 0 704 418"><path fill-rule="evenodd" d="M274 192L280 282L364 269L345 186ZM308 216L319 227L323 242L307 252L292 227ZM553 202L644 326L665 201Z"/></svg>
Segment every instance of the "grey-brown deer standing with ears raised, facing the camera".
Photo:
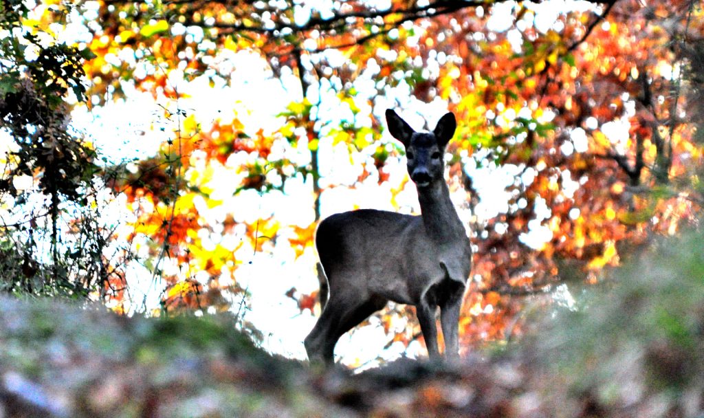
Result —
<svg viewBox="0 0 704 418"><path fill-rule="evenodd" d="M440 308L444 357L459 358L460 309L472 247L444 177L455 115L446 113L432 132L415 132L388 109L386 124L406 149L420 215L360 209L320 222L315 247L324 272L319 271L322 312L303 341L311 363L334 365L337 340L389 300L415 306L429 358L436 362L443 358L436 329Z"/></svg>

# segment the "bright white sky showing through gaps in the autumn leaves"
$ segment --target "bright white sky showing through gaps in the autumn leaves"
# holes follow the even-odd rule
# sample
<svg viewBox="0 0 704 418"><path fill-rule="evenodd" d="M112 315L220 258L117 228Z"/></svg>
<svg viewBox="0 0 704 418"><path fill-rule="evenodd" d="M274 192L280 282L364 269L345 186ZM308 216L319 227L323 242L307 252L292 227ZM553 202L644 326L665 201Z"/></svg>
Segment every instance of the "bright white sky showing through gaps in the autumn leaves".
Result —
<svg viewBox="0 0 704 418"><path fill-rule="evenodd" d="M329 8L329 3L325 0L307 2L308 6L298 8L296 21L306 20L311 7L327 13L325 10ZM388 7L384 5L388 5L389 1L379 0L374 3L379 7ZM499 32L508 30L513 23L508 16L514 6L513 1L496 4L494 16L489 20L489 26ZM593 5L586 1L564 0L551 0L532 5L536 11L535 25L542 31L559 25L556 23L556 18L560 11L587 7L591 8ZM81 20L80 16L73 16L73 18L76 21ZM82 25L69 25L63 38L82 39L86 34ZM339 51L329 51L327 54L333 60L335 58L344 59ZM143 65L142 63L136 64L138 67ZM132 158L153 156L156 153L160 144L166 139L165 132L168 134L175 128L174 125L163 120L163 108L176 110L178 107L186 110L188 114L195 113L203 125L203 129L206 130L217 118L227 120L225 115L237 114L244 122L246 129L250 129L248 133L254 134L259 127L264 127L265 131L270 132L282 125L284 120L276 118L275 115L284 110L292 101L298 101L301 98L298 81L293 75L284 74L280 81L272 79L266 63L253 53L223 52L215 58L213 65L234 68L231 80L232 87L227 87L222 83L216 83L215 87L210 87L206 77L185 82L177 72L172 72L172 84L176 85L184 95L189 96L188 99L181 99L176 103L167 99L154 101L151 94L130 91L130 84L125 83L124 87L128 91L126 101L111 102L103 108L94 108L92 112L87 112L84 109L76 110L73 113L72 126L84 134L87 139L94 141L99 152L108 158L109 163L119 163ZM375 65L374 62L367 63L370 71L373 71ZM145 68L145 70L147 69ZM358 83L360 91L358 105L363 108L363 112L368 108L366 98L376 94L373 84L368 81L370 77L366 78L367 82L365 83L363 72ZM317 101L316 94L317 92L314 92L311 101ZM326 119L329 115L345 118L346 113L338 106L334 93L322 91L320 94L322 94L321 119ZM401 84L398 89L389 90L386 96L377 97L377 108L373 111L379 120L383 120L384 110L386 108L398 109L396 103L401 103L401 115L416 129L422 128L425 120L428 121L430 127L433 127L448 108L447 103L440 100L433 103L421 103L411 99L410 89ZM360 123L368 124L369 122L362 121ZM165 132L159 129L162 126L166 128ZM579 137L579 132L576 137ZM391 141L388 134L384 134L384 140ZM289 152L291 151L289 150ZM329 143L322 142L320 152L322 155L320 171L325 176L324 182L348 185L358 178L359 167L348 163L349 156L346 150L336 149ZM230 162L232 166L237 164L237 158L240 157L233 158ZM293 158L299 158L301 163L305 163L306 158L310 157L307 153L301 153ZM467 172L474 179L481 199L475 215L481 219L488 219L507 210L506 201L509 196L505 192L505 187L513 183L517 167L476 167L470 158L465 158L465 163ZM222 172L215 176L220 182L215 185L215 189L218 189L219 198L222 198L225 204L220 208L213 208L211 213L205 214L206 217L218 219L223 214L230 212L237 213L239 220L255 220L258 217L267 217L268 214L272 214L284 224L300 224L301 226L307 225L313 220L313 195L309 185L303 184L300 179L291 179L287 182L286 194L273 193L259 196L253 192L244 192L232 196L234 183L232 181L232 166L221 167ZM354 191L350 191L346 187L326 191L321 198L323 217L355 207L393 210L390 203L390 188L401 182L403 176L406 175L406 168L402 161L394 162L391 160L389 167L389 171L392 173L389 183L378 185L372 178L367 184L359 186ZM465 224L468 224L472 214L462 206L465 199L464 194L453 197L456 199L460 216L465 220ZM404 212L415 211L417 213L415 186L409 184L398 197L398 201ZM114 202L108 208L104 215L115 222L129 218L129 214L125 213L122 201ZM547 214L548 210L543 208L540 212ZM551 235L548 229L540 226L540 219L533 222L534 234L526 236L525 239L530 245L539 246ZM222 237L213 236L211 239L218 241ZM237 281L241 286L249 288L252 294L251 300L247 303L245 319L263 332L266 336L265 344L269 350L291 357L306 358L302 341L315 324L316 318L308 311L301 314L294 300L284 296L284 293L291 287L296 287L298 291L303 293L310 293L317 289L318 281L313 270L316 260L315 254L309 251L293 265L282 263L283 260L291 260L290 250L286 248L281 251L277 248L272 255L259 253L246 257L249 257L246 261L251 263L245 262L237 270ZM135 266L129 280L132 288L137 289L137 293L146 294L150 308L158 304L158 294L153 289L154 286L158 288L159 284L151 282L149 272ZM138 294L132 296L141 298ZM233 302L233 310L237 311L239 300ZM401 343L396 343L389 350L382 352L388 339L379 322L376 319L372 319L371 322L369 327L363 327L341 338L336 353L343 357L343 362L363 364L380 354L386 358L393 358L406 350ZM403 322L398 322L395 325L399 328L405 326ZM425 355L425 349L421 348L419 343L412 343L406 350L406 354L411 356Z"/></svg>

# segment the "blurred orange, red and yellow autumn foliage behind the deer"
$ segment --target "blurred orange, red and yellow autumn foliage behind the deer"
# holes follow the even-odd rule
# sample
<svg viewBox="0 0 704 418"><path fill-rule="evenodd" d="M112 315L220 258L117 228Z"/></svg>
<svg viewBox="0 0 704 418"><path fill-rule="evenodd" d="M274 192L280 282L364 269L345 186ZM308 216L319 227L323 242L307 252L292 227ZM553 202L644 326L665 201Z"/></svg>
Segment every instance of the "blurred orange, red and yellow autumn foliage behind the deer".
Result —
<svg viewBox="0 0 704 418"><path fill-rule="evenodd" d="M329 3L72 6L90 12L80 46L95 55L84 65L91 106L134 91L166 103L158 154L108 183L134 213L121 239L163 279L164 310L232 308L246 291L237 270L254 253L303 260L315 282L315 225L341 192L384 188L380 206L410 211L402 150L378 118L386 107L458 119L448 179L475 247L460 321L465 350L520 334L527 297L575 277L596 283L654 234L697 224L698 2ZM45 30L66 23L42 16ZM263 126L248 113L253 98L237 96L246 80L233 63L243 56L295 93L268 98L275 111ZM182 109L195 83L232 94L223 100L238 103L234 112L206 120ZM335 182L329 167L341 162L353 181ZM225 191L216 186L222 177ZM237 200L291 190L310 201L305 221L253 217ZM315 292L293 290L301 312L314 312ZM410 317L395 309L380 316L386 329ZM409 343L418 331L410 322L394 339Z"/></svg>

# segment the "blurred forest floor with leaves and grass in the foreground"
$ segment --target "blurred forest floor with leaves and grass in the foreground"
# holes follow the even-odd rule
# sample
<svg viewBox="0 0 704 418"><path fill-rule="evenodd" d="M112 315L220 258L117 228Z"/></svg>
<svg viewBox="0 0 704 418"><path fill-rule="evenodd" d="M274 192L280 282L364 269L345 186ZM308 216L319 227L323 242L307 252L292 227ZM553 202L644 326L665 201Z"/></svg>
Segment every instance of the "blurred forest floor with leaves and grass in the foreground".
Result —
<svg viewBox="0 0 704 418"><path fill-rule="evenodd" d="M360 374L265 353L232 317L3 297L0 418L702 417L703 241L654 243L520 341Z"/></svg>

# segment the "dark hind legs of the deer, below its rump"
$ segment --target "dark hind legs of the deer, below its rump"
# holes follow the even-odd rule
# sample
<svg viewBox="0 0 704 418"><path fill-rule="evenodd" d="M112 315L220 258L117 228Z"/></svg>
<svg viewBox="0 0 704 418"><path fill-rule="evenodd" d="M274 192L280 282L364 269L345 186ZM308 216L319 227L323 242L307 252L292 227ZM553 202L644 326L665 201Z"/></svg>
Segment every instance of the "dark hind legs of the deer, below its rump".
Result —
<svg viewBox="0 0 704 418"><path fill-rule="evenodd" d="M351 300L337 296L340 294L332 294L313 331L303 341L311 362L322 360L325 364L332 365L335 344L342 334L386 305L386 300L379 298L360 300L356 296Z"/></svg>

